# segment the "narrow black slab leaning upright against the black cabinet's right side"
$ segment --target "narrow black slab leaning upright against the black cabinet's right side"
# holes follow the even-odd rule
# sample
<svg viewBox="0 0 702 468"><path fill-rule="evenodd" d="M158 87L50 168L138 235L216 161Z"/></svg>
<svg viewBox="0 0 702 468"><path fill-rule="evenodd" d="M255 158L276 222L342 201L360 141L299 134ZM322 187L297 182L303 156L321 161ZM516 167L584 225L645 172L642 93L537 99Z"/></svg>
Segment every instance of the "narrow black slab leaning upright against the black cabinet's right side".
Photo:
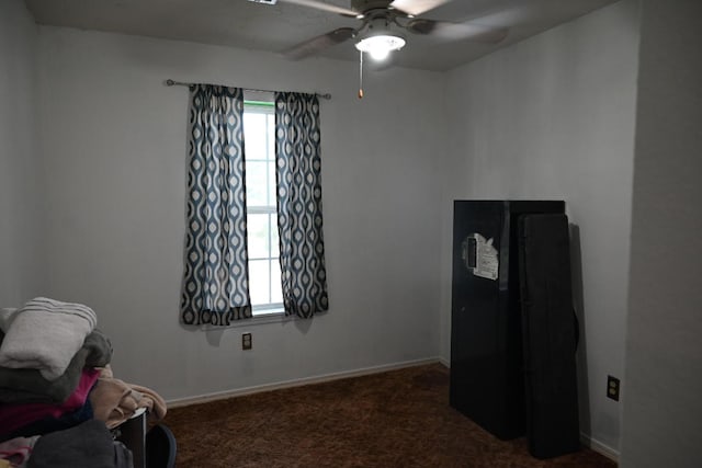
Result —
<svg viewBox="0 0 702 468"><path fill-rule="evenodd" d="M551 458L580 448L568 218L520 216L519 239L526 437Z"/></svg>

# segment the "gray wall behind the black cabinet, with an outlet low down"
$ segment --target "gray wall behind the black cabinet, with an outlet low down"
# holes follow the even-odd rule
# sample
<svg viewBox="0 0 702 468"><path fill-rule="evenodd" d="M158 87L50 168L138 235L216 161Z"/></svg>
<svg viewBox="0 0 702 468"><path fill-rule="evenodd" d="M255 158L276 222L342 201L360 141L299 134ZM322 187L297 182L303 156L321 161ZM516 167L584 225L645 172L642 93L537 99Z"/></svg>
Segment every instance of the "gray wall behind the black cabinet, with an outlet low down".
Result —
<svg viewBox="0 0 702 468"><path fill-rule="evenodd" d="M624 1L449 73L441 350L450 354L452 199L565 199L574 227L581 431L613 455L624 374L638 3ZM581 275L581 276L580 276Z"/></svg>

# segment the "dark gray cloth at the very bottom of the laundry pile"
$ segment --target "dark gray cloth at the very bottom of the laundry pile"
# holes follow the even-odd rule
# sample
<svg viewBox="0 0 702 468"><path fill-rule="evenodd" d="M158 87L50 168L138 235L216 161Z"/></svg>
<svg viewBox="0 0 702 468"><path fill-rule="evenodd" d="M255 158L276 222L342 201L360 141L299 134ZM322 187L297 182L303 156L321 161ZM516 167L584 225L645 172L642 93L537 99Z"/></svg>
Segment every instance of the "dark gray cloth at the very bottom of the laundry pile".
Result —
<svg viewBox="0 0 702 468"><path fill-rule="evenodd" d="M105 424L88 420L75 427L41 436L27 468L115 468L116 449Z"/></svg>

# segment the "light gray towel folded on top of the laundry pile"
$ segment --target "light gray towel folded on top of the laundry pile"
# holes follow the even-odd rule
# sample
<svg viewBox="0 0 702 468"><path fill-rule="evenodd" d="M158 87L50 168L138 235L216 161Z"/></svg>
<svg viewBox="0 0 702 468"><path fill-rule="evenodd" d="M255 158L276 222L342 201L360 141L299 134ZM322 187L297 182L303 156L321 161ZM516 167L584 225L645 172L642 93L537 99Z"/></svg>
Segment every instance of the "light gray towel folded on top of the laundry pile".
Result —
<svg viewBox="0 0 702 468"><path fill-rule="evenodd" d="M38 369L55 380L97 322L95 312L82 304L34 298L12 315L0 346L0 366Z"/></svg>

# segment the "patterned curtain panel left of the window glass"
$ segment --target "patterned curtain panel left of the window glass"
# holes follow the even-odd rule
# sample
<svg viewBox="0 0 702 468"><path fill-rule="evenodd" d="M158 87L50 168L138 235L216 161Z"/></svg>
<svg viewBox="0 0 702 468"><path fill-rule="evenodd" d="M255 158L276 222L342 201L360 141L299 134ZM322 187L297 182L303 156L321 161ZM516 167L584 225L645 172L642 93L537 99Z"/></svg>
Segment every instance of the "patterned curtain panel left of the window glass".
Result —
<svg viewBox="0 0 702 468"><path fill-rule="evenodd" d="M190 87L188 152L181 319L226 326L251 317L241 89Z"/></svg>

